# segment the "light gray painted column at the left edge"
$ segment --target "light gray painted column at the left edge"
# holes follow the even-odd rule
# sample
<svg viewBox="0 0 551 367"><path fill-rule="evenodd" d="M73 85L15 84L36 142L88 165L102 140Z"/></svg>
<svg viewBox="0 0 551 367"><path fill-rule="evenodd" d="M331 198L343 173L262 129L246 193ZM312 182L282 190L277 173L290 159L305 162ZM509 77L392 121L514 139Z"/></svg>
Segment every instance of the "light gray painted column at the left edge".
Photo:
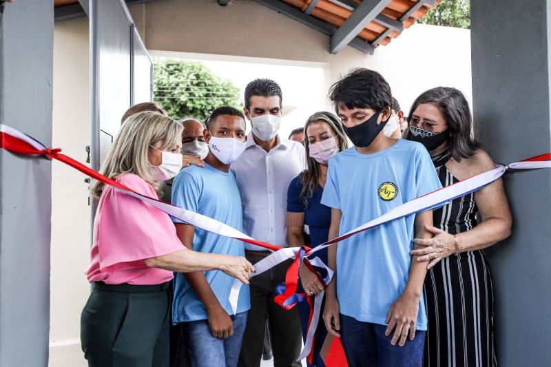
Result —
<svg viewBox="0 0 551 367"><path fill-rule="evenodd" d="M0 121L47 146L53 37L52 1L6 4L0 26ZM0 150L0 366L48 364L51 172L49 160Z"/></svg>

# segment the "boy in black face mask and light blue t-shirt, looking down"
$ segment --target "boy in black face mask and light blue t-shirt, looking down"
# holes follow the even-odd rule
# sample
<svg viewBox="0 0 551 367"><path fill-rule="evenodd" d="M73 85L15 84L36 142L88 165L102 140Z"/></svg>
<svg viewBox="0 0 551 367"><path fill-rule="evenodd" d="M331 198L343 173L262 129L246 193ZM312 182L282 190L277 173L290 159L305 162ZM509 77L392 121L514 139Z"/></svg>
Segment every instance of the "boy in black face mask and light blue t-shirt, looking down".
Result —
<svg viewBox="0 0 551 367"><path fill-rule="evenodd" d="M439 189L426 149L384 134L391 87L356 69L330 91L355 147L329 162L322 204L331 207L329 240ZM329 247L335 270L324 322L341 337L349 366L421 366L427 319L422 300L427 262L410 256L413 238L430 238L432 210L393 220Z"/></svg>

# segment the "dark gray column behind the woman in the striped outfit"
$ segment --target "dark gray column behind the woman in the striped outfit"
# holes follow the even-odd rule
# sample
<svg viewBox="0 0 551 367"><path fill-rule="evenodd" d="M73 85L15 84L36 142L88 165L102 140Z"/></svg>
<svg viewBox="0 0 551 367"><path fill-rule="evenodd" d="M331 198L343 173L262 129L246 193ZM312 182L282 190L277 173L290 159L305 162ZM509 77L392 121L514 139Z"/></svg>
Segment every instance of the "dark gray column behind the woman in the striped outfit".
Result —
<svg viewBox="0 0 551 367"><path fill-rule="evenodd" d="M479 137L508 163L547 153L550 2L471 0L472 92ZM488 249L501 366L548 366L551 170L507 174L511 237Z"/></svg>

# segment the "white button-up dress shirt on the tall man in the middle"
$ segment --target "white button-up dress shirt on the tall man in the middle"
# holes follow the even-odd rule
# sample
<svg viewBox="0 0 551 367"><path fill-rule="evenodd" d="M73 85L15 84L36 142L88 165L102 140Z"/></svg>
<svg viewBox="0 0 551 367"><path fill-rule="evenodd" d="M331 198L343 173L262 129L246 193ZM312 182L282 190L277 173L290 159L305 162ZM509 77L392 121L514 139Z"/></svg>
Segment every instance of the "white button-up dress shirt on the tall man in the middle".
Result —
<svg viewBox="0 0 551 367"><path fill-rule="evenodd" d="M278 144L265 151L249 132L245 151L231 163L241 194L244 233L256 240L288 246L287 189L305 166L302 144L278 136ZM265 250L247 243L245 249Z"/></svg>

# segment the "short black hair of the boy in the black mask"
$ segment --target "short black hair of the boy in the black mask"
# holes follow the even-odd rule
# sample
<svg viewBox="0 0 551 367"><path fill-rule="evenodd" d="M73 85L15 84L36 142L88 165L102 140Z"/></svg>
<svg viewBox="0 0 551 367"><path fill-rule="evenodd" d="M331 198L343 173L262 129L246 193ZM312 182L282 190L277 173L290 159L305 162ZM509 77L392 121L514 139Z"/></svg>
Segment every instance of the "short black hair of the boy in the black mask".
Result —
<svg viewBox="0 0 551 367"><path fill-rule="evenodd" d="M358 67L331 85L329 98L338 112L339 107L373 108L379 112L392 105L391 86L373 70Z"/></svg>

